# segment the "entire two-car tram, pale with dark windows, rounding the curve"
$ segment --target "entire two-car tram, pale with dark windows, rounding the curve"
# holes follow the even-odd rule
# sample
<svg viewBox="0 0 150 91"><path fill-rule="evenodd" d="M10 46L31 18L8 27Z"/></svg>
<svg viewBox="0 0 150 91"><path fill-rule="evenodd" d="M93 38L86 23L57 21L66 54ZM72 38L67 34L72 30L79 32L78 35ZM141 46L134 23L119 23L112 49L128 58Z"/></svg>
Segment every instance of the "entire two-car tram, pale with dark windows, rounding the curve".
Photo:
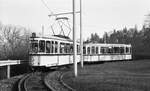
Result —
<svg viewBox="0 0 150 91"><path fill-rule="evenodd" d="M84 62L131 60L130 44L88 43L83 45ZM52 67L73 63L73 41L69 37L54 35L30 37L30 58L32 67ZM77 62L80 61L80 46L77 43Z"/></svg>

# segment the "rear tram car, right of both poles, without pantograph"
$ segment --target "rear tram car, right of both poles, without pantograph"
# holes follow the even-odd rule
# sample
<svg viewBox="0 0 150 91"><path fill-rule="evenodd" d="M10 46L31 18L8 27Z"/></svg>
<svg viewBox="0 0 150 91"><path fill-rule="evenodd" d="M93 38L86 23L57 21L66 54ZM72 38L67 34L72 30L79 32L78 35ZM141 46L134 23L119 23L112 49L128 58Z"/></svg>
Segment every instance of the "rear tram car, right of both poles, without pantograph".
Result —
<svg viewBox="0 0 150 91"><path fill-rule="evenodd" d="M130 44L88 43L83 47L84 62L131 60Z"/></svg>

